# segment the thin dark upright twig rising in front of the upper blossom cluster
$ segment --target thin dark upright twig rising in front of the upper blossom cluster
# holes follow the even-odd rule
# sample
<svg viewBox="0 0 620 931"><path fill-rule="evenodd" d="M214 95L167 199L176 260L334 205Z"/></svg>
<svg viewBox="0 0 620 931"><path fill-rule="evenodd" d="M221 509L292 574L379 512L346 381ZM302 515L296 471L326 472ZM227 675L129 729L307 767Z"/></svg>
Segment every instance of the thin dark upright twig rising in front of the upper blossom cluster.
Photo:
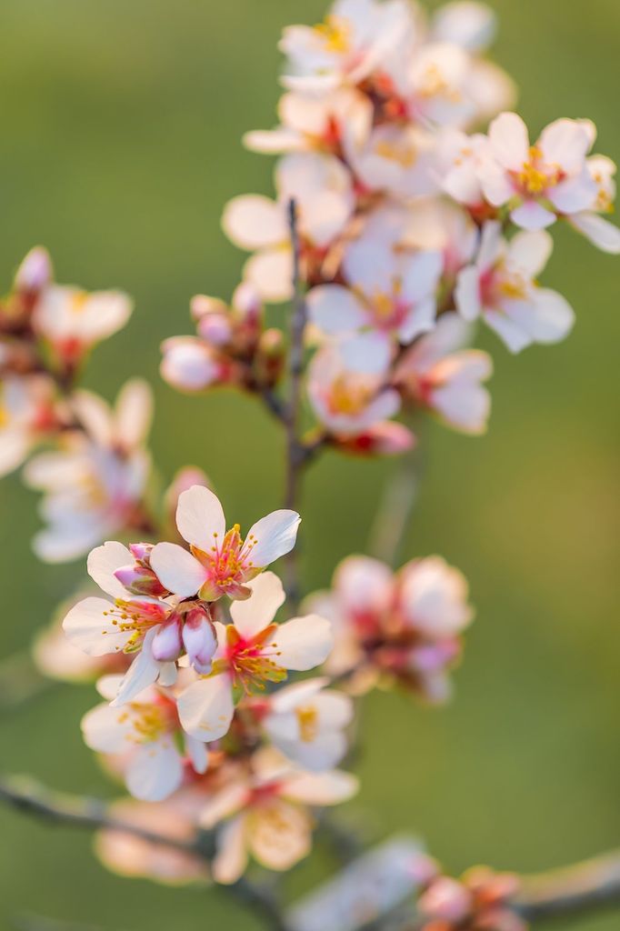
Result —
<svg viewBox="0 0 620 931"><path fill-rule="evenodd" d="M297 225L297 204L289 204L290 246L292 250L292 315L290 320L289 377L290 396L287 407L287 474L284 506L296 510L299 504L300 481L306 463L306 450L299 439L303 385L303 335L307 322L307 306L302 282L301 244ZM287 558L288 595L294 612L299 601L299 578L297 556L293 549Z"/></svg>

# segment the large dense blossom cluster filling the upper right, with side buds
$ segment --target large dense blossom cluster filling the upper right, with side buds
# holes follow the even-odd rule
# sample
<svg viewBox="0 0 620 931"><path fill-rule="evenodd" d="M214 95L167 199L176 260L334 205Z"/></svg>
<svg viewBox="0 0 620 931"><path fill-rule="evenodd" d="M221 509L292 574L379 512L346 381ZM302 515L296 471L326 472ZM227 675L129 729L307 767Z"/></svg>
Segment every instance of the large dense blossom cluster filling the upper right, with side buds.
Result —
<svg viewBox="0 0 620 931"><path fill-rule="evenodd" d="M568 335L573 309L538 282L557 221L620 252L605 219L615 166L589 155L593 124L559 119L531 144L508 112L511 80L486 57L494 26L478 3L429 19L411 0L336 0L323 22L284 31L280 124L245 138L281 156L276 198L226 206L224 231L252 253L242 296L230 311L195 298L198 335L163 347L171 385L276 385L277 364L264 371L265 352L280 358L273 331L267 350L255 333L253 362L236 333L260 301L290 299L298 238L314 352L306 397L325 440L403 452L414 437L392 418L411 408L485 430L492 362L465 348L470 324L482 319L512 352Z"/></svg>

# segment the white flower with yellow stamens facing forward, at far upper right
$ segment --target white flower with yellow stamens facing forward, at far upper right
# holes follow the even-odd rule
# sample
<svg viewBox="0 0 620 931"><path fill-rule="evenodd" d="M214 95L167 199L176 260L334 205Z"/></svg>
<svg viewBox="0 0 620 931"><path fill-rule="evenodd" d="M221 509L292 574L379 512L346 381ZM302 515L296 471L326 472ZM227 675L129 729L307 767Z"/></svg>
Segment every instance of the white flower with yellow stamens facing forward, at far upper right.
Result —
<svg viewBox="0 0 620 931"><path fill-rule="evenodd" d="M530 145L520 116L499 115L480 167L485 198L507 205L513 223L532 231L588 209L597 193L586 164L595 137L589 120L559 119Z"/></svg>

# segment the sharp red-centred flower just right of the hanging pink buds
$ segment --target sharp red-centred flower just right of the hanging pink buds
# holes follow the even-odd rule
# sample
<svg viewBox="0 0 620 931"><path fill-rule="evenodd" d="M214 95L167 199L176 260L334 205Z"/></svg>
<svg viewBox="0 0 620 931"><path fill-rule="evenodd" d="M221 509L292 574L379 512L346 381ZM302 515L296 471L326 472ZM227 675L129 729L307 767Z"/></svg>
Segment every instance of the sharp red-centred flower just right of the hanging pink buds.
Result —
<svg viewBox="0 0 620 931"><path fill-rule="evenodd" d="M184 730L198 740L225 735L235 713L235 692L250 695L266 682L287 678L288 670L305 671L324 662L330 653L330 622L316 614L275 624L284 602L282 583L274 573L249 582L251 597L231 606L233 623L216 623L218 650L213 672L194 682L179 696Z"/></svg>

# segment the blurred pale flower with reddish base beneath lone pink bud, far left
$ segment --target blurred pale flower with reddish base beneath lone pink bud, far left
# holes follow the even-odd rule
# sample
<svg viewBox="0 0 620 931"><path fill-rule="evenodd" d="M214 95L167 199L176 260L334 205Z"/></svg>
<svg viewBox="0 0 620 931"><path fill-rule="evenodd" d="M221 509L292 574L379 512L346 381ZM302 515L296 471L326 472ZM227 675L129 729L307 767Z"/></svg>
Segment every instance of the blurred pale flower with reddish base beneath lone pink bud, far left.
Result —
<svg viewBox="0 0 620 931"><path fill-rule="evenodd" d="M121 330L132 309L122 291L50 285L34 308L33 326L62 365L74 366L93 345Z"/></svg>

